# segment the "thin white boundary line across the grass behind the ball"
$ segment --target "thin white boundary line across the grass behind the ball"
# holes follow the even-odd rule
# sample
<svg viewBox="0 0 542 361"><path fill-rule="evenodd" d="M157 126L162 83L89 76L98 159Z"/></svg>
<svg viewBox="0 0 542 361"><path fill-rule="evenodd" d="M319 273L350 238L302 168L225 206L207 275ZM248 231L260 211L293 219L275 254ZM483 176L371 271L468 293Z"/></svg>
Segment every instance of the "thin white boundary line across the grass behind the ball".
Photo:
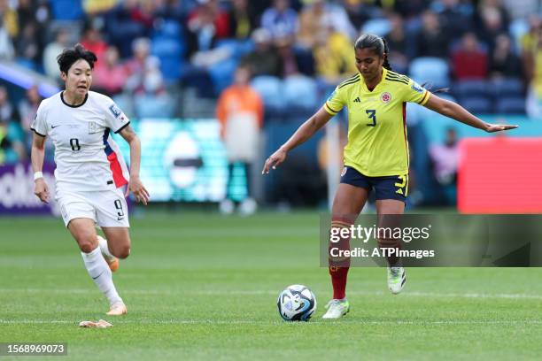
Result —
<svg viewBox="0 0 542 361"><path fill-rule="evenodd" d="M97 290L90 288L0 288L0 293L45 293L45 294L94 294ZM155 290L155 289L124 289L123 294L127 295L157 295L157 296L257 296L269 295L278 296L278 291L254 289L254 290L201 290L201 291L184 291L175 289ZM349 291L349 295L357 296L385 296L390 295L390 292L384 291ZM437 293L437 292L417 292L405 291L396 297L434 297L434 298L486 298L486 299L527 299L527 300L542 300L542 295L528 294L484 294L484 293Z"/></svg>

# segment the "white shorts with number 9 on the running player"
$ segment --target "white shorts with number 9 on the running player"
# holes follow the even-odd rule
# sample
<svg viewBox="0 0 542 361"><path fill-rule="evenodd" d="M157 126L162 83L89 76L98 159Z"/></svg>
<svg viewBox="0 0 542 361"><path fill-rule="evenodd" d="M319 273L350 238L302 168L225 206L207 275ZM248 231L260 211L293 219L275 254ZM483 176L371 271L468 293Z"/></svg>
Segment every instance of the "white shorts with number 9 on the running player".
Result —
<svg viewBox="0 0 542 361"><path fill-rule="evenodd" d="M100 227L130 227L128 205L120 189L91 192L59 191L56 196L64 224L72 219L93 219Z"/></svg>

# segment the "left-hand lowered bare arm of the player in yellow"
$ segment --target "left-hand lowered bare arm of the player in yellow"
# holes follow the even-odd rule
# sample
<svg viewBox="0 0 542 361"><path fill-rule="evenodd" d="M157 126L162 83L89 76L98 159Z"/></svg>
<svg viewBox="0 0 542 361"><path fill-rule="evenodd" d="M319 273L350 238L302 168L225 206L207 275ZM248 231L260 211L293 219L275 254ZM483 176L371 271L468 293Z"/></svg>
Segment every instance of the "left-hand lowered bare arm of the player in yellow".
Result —
<svg viewBox="0 0 542 361"><path fill-rule="evenodd" d="M266 164L264 165L261 173L267 174L269 173L269 169L275 169L277 165L283 163L290 150L293 150L299 144L306 142L307 139L313 136L313 134L323 127L324 124L326 124L331 118L333 118L333 116L323 107L321 107L321 109L316 111L311 118L307 119L305 123L298 127L298 130L296 130L296 132L290 136L290 139L285 142L281 148L276 150L275 153L267 158Z"/></svg>

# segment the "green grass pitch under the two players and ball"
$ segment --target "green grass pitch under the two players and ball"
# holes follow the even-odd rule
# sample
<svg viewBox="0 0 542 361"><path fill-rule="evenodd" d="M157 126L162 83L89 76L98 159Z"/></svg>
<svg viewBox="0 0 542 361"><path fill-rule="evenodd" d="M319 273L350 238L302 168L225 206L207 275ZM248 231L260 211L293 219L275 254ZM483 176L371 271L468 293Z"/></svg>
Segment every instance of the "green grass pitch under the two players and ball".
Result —
<svg viewBox="0 0 542 361"><path fill-rule="evenodd" d="M54 359L108 361L542 355L539 268L409 269L399 296L387 291L384 269L355 268L352 311L324 322L331 287L316 212L149 212L131 224L132 254L114 276L129 313L110 318L60 219L0 219L0 342L67 342L68 357ZM314 290L310 322L287 323L276 311L292 283ZM89 319L114 326L77 326Z"/></svg>

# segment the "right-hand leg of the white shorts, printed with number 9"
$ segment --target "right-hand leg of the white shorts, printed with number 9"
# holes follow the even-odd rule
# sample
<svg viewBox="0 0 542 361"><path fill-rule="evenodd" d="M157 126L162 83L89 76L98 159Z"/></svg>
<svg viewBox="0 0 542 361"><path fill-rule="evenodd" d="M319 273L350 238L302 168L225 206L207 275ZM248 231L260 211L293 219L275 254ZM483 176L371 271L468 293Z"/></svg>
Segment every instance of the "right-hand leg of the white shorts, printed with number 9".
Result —
<svg viewBox="0 0 542 361"><path fill-rule="evenodd" d="M88 197L96 209L98 226L124 228L130 226L128 222L128 204L119 189L91 193Z"/></svg>

